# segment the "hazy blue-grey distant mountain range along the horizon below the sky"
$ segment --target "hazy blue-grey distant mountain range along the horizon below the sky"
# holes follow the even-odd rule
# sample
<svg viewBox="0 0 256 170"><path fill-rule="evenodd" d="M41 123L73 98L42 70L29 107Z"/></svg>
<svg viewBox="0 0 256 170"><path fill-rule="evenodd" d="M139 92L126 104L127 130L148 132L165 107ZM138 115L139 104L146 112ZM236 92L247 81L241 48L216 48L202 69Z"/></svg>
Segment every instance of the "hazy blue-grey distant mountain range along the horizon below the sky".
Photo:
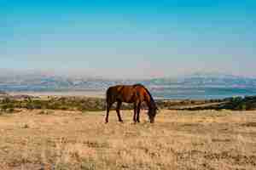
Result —
<svg viewBox="0 0 256 170"><path fill-rule="evenodd" d="M143 83L149 88L256 88L256 78L216 73L195 73L183 77L120 80L93 77L64 77L50 73L0 74L2 91L104 90L114 84Z"/></svg>

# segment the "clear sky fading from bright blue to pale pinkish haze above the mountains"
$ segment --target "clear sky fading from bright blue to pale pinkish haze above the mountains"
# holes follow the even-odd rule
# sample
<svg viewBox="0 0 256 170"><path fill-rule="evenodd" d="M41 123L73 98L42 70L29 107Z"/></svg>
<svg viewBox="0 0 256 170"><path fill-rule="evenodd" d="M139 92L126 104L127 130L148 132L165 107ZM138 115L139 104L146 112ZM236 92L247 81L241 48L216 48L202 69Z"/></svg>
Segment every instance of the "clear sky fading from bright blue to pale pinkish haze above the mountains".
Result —
<svg viewBox="0 0 256 170"><path fill-rule="evenodd" d="M255 0L0 0L0 68L256 76Z"/></svg>

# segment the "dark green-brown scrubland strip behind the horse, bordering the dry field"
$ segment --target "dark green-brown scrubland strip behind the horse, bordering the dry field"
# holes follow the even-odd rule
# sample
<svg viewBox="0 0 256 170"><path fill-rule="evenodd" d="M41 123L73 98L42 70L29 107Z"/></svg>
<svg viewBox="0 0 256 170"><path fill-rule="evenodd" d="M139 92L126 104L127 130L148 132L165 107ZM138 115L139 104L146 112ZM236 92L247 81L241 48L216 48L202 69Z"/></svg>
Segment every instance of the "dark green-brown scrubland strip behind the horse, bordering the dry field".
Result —
<svg viewBox="0 0 256 170"><path fill-rule="evenodd" d="M254 111L256 110L256 96L245 98L236 97L228 99L156 99L156 105L160 110L232 110ZM113 105L113 109L115 105ZM122 109L132 110L132 104L123 103ZM143 103L143 109L148 109ZM47 96L44 98L30 95L8 95L0 98L1 111L15 111L15 109L45 109L62 111L105 111L106 101L103 98L66 96Z"/></svg>

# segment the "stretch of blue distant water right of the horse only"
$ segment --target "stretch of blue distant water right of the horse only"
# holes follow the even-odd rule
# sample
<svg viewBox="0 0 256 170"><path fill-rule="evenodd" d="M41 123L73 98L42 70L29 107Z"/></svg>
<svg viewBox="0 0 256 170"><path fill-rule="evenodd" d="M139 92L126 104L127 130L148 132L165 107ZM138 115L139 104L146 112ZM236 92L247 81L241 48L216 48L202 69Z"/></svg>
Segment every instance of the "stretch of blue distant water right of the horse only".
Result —
<svg viewBox="0 0 256 170"><path fill-rule="evenodd" d="M164 88L151 91L159 99L224 99L256 95L256 88Z"/></svg>

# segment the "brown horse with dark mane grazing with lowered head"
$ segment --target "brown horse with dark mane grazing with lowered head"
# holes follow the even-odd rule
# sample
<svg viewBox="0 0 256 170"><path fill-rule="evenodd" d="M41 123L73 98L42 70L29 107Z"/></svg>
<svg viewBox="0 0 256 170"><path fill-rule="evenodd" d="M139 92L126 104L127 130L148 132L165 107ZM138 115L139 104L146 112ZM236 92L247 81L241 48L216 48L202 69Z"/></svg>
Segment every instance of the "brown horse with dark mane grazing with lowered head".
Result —
<svg viewBox="0 0 256 170"><path fill-rule="evenodd" d="M120 107L122 102L133 103L134 105L134 122L140 122L140 109L143 102L148 105L148 117L151 123L154 122L154 116L156 115L157 106L154 99L142 84L135 85L117 85L108 88L107 90L107 115L106 123L108 123L108 115L113 103L117 102L116 112L119 118L119 122L123 122L120 116Z"/></svg>

